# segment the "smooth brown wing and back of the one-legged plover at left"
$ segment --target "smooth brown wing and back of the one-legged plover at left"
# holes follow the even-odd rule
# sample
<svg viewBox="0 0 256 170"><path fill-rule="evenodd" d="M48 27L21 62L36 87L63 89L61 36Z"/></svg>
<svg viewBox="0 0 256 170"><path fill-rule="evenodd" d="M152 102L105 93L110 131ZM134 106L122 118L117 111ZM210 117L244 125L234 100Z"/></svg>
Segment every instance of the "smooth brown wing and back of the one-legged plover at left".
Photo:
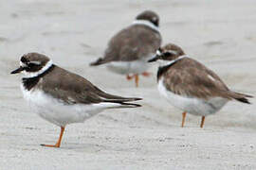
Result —
<svg viewBox="0 0 256 170"><path fill-rule="evenodd" d="M65 104L101 102L125 104L123 102L140 100L140 98L125 98L104 93L82 76L72 74L58 66L39 81L38 87Z"/></svg>

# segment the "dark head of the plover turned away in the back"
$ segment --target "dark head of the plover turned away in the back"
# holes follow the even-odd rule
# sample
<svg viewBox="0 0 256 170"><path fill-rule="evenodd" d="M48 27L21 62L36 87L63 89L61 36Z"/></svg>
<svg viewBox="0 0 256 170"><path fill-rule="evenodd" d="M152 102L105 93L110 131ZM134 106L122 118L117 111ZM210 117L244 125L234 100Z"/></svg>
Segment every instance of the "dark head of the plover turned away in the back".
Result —
<svg viewBox="0 0 256 170"><path fill-rule="evenodd" d="M139 13L136 19L142 21L149 21L155 26L159 26L159 16L152 10L145 10Z"/></svg>

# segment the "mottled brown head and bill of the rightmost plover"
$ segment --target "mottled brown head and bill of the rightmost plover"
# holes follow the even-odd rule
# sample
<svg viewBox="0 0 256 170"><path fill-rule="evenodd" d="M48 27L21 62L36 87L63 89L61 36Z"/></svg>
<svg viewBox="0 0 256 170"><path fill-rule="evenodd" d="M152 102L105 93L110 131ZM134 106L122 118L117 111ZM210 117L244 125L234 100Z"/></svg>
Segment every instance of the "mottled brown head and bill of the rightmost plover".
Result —
<svg viewBox="0 0 256 170"><path fill-rule="evenodd" d="M168 43L165 46L158 48L158 50L156 51L155 57L153 59L149 59L148 61L153 62L158 59L175 60L184 55L185 53L181 49L181 47L173 43Z"/></svg>

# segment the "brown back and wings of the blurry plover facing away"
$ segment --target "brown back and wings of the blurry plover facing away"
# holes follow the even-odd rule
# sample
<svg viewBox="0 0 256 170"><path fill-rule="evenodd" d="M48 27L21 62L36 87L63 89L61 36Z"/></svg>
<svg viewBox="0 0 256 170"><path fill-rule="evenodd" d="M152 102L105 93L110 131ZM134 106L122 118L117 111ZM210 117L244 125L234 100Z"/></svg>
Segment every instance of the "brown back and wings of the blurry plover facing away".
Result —
<svg viewBox="0 0 256 170"><path fill-rule="evenodd" d="M98 59L91 65L122 60L131 61L155 54L161 44L158 32L147 26L129 26L119 31L108 43L104 58Z"/></svg>

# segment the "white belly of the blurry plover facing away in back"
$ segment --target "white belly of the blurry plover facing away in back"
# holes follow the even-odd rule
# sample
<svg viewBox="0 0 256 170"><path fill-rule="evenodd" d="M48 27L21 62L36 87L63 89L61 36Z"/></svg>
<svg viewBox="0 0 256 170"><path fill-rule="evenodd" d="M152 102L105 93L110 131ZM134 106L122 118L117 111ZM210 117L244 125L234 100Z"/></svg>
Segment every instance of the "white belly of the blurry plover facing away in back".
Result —
<svg viewBox="0 0 256 170"><path fill-rule="evenodd" d="M146 72L150 66L147 62L148 59L150 58L133 61L112 61L107 64L107 68L121 75L142 74Z"/></svg>

